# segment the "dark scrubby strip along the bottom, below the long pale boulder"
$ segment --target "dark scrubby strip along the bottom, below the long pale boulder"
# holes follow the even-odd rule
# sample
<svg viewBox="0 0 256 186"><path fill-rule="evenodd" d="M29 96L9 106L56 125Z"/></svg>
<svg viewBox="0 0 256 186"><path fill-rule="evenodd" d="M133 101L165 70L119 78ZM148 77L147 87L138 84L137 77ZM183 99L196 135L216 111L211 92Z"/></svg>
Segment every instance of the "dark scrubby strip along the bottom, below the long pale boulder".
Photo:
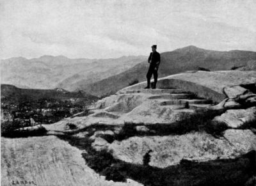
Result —
<svg viewBox="0 0 256 186"><path fill-rule="evenodd" d="M138 165L116 160L107 150L95 151L88 137L58 136L86 152L82 153L86 165L106 180L125 182L127 178L144 185L244 185L255 174L255 151L236 159L193 162L181 160L180 164L166 168ZM150 159L150 157L148 157ZM149 161L149 160L148 160ZM86 176L86 175L84 175Z"/></svg>

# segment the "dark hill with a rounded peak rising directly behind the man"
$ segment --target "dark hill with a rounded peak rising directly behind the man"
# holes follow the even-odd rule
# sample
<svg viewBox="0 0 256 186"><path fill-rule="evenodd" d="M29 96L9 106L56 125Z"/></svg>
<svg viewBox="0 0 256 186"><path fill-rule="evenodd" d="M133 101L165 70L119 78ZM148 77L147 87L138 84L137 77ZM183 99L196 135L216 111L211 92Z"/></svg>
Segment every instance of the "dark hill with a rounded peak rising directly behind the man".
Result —
<svg viewBox="0 0 256 186"><path fill-rule="evenodd" d="M172 52L161 53L161 65L158 74L159 77L164 77L188 70L198 70L199 67L215 71L230 70L234 66L251 66L252 68L246 70L255 70L253 69L255 64L256 52L242 50L220 52L189 46ZM85 84L77 89L86 90L86 92L97 96L109 95L115 93L118 89L129 86L129 82L134 79L138 79L140 82L146 81L147 70L148 63L144 61L118 75L108 77L89 86Z"/></svg>

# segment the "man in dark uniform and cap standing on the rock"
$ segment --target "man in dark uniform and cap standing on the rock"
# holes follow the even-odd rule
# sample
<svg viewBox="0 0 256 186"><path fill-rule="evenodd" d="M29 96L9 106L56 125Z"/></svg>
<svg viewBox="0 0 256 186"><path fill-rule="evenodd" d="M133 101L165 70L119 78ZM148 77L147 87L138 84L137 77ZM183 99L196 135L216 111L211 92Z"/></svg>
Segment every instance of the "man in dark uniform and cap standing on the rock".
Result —
<svg viewBox="0 0 256 186"><path fill-rule="evenodd" d="M154 75L154 86L153 89L156 88L157 83L157 70L160 64L160 54L156 51L156 45L152 45L152 52L150 53L148 57L148 63L150 63L147 73L147 82L148 85L145 88L150 88L150 79L152 77L152 74Z"/></svg>

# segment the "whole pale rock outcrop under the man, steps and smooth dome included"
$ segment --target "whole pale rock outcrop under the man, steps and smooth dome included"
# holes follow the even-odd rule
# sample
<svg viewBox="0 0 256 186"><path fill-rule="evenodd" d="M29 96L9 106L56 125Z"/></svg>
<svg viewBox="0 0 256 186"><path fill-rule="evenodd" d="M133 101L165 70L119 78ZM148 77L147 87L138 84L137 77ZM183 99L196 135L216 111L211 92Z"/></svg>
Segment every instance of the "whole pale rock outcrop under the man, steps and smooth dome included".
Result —
<svg viewBox="0 0 256 186"><path fill-rule="evenodd" d="M67 123L76 125L77 130L91 125L177 123L198 111L201 113L207 110L224 112L227 109L239 109L246 103L252 106L256 97L252 93L248 95L250 92L248 89L236 84L251 84L255 80L255 72L240 71L198 71L170 75L159 80L159 87L163 89L141 89L144 83L136 84L99 100L90 107L89 116L66 118L44 127L47 130L63 131L68 130ZM183 88L181 89L180 86ZM191 89L192 86L193 89ZM230 98L220 105L213 106L209 100L195 97L196 94L215 100L225 98L223 88L226 89ZM239 97L243 102L234 100L235 97Z"/></svg>

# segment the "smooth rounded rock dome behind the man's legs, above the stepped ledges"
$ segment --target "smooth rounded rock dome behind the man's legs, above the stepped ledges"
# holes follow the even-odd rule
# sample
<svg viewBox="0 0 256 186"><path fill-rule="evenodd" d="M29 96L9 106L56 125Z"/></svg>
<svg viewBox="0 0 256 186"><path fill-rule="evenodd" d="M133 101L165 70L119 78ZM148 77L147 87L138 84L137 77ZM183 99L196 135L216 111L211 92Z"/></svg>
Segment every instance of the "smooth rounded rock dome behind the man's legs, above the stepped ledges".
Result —
<svg viewBox="0 0 256 186"><path fill-rule="evenodd" d="M160 78L157 82L157 86L160 88L172 87L184 89L196 93L200 97L209 98L215 102L221 102L221 100L226 97L225 93L223 93L223 88L239 86L241 84L255 84L255 82L255 71L196 71ZM120 91L140 89L146 84L147 82L141 82L121 89ZM236 92L233 93L233 95L234 94L236 94Z"/></svg>

